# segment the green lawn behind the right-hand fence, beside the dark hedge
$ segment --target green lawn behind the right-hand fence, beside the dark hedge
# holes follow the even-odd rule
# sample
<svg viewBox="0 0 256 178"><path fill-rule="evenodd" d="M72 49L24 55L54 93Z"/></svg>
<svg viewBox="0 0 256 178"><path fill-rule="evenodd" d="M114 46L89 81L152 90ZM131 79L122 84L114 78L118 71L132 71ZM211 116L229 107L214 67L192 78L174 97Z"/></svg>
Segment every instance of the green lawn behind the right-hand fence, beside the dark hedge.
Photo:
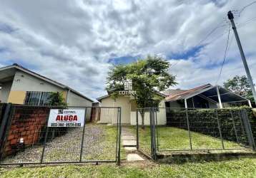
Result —
<svg viewBox="0 0 256 178"><path fill-rule="evenodd" d="M136 134L135 127L131 127L132 132ZM203 135L198 132L190 132L192 140L192 149L221 149L222 142L220 138ZM159 151L164 150L189 150L189 132L177 127L157 127L157 145ZM223 141L225 148L241 149L241 145L236 142ZM150 128L145 130L139 128L139 148L150 154Z"/></svg>

